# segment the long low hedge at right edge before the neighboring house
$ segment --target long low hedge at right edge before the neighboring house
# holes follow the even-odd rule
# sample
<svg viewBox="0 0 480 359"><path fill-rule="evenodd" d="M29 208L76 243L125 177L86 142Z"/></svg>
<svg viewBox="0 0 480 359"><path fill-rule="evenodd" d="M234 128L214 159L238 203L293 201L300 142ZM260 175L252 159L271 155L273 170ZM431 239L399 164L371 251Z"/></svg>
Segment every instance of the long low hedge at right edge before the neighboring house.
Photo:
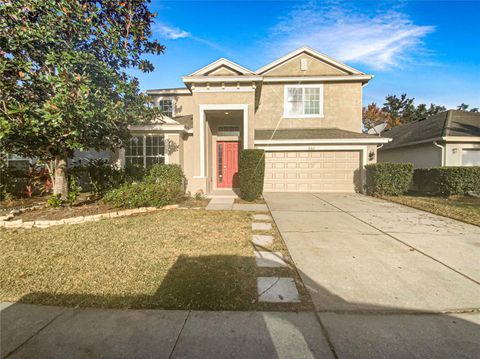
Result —
<svg viewBox="0 0 480 359"><path fill-rule="evenodd" d="M480 192L480 167L417 168L413 183L420 192L442 196Z"/></svg>

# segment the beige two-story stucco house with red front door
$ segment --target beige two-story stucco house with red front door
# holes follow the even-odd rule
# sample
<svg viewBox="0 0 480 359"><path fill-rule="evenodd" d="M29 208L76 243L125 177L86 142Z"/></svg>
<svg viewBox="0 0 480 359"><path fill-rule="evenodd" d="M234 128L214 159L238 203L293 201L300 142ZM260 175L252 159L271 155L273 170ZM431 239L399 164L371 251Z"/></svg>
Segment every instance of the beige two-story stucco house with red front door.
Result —
<svg viewBox="0 0 480 359"><path fill-rule="evenodd" d="M265 191L353 192L388 139L362 133L372 75L302 47L252 71L219 59L149 90L165 115L132 127L121 163L178 163L192 193L238 186L239 150L265 150Z"/></svg>

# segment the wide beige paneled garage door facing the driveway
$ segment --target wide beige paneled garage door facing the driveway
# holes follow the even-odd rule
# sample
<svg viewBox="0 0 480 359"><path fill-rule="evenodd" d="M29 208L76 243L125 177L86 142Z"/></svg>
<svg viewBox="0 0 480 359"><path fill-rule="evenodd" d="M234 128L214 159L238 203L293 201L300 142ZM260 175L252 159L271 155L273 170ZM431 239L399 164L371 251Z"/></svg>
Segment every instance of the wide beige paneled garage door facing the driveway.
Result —
<svg viewBox="0 0 480 359"><path fill-rule="evenodd" d="M265 192L354 192L359 151L265 152Z"/></svg>

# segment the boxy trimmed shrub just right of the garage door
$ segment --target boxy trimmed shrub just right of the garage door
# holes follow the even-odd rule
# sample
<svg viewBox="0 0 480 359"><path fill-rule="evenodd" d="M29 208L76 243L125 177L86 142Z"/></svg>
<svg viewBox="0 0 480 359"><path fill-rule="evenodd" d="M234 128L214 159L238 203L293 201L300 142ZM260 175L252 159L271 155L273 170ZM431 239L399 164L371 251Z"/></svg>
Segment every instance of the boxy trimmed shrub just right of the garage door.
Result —
<svg viewBox="0 0 480 359"><path fill-rule="evenodd" d="M374 163L366 165L365 169L370 196L398 196L406 193L412 184L411 163Z"/></svg>

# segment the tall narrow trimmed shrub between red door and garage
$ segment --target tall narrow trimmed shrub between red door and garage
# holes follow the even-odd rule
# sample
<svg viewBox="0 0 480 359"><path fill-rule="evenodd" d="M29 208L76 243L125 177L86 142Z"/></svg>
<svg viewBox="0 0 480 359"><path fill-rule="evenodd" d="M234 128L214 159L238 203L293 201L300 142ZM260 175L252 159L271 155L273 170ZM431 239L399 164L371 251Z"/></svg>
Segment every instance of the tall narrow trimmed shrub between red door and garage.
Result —
<svg viewBox="0 0 480 359"><path fill-rule="evenodd" d="M246 201L253 201L263 193L265 177L265 154L263 150L241 150L240 163L240 196Z"/></svg>

